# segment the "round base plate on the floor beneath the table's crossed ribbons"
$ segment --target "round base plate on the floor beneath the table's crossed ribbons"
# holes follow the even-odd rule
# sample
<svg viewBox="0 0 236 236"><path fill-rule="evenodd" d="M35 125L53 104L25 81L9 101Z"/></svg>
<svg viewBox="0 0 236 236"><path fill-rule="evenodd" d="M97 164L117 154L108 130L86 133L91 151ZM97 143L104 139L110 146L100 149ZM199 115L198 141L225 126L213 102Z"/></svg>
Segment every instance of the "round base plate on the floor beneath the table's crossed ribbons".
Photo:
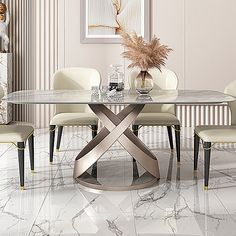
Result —
<svg viewBox="0 0 236 236"><path fill-rule="evenodd" d="M76 181L81 185L108 191L128 191L151 187L158 179L132 160L102 160Z"/></svg>

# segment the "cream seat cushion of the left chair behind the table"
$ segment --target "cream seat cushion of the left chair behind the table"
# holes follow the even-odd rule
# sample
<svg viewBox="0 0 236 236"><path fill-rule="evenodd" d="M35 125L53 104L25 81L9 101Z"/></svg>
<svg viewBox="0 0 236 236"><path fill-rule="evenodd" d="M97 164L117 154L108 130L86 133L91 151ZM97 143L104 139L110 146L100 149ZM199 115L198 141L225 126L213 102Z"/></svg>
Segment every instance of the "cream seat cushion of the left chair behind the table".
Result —
<svg viewBox="0 0 236 236"><path fill-rule="evenodd" d="M50 125L76 126L97 125L98 118L93 113L60 113L55 115Z"/></svg>

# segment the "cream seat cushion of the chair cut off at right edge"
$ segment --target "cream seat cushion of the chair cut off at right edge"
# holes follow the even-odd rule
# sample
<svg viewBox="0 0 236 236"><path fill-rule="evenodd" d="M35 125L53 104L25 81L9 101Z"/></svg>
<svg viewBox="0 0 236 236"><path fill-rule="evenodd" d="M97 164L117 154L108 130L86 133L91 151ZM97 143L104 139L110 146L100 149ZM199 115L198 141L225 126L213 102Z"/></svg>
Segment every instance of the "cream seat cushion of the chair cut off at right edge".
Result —
<svg viewBox="0 0 236 236"><path fill-rule="evenodd" d="M216 125L204 125L197 126L195 133L204 142L213 143L235 143L236 142L236 126L216 126Z"/></svg>

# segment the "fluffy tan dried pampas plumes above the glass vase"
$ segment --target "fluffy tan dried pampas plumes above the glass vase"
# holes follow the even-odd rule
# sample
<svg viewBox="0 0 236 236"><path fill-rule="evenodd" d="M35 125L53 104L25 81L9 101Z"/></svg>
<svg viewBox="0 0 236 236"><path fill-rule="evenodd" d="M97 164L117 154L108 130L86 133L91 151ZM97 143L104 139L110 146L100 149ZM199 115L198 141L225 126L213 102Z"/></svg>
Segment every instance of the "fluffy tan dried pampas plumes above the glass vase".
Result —
<svg viewBox="0 0 236 236"><path fill-rule="evenodd" d="M128 68L139 67L145 71L156 67L161 71L161 66L165 66L165 60L172 49L161 45L160 39L156 36L150 43L145 42L143 37L138 36L137 33L122 33L121 36L122 45L126 49L122 55L132 62Z"/></svg>

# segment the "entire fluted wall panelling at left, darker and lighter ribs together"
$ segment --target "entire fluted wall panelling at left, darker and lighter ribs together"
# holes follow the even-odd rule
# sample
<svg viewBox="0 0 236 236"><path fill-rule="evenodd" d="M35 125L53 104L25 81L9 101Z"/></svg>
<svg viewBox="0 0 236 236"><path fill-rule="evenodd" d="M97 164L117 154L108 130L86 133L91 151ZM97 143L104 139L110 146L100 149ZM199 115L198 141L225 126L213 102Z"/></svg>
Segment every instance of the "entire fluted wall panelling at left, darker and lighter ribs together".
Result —
<svg viewBox="0 0 236 236"><path fill-rule="evenodd" d="M13 91L51 89L59 64L58 3L61 0L4 0L10 11L10 52L13 53ZM53 108L14 106L13 119L48 126Z"/></svg>

